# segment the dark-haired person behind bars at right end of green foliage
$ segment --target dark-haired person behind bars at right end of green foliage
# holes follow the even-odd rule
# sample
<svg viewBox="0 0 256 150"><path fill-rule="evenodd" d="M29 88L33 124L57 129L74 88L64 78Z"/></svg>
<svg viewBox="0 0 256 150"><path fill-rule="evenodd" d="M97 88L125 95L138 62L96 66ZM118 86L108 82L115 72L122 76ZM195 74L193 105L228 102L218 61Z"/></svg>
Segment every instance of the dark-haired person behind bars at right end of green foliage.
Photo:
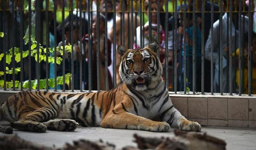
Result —
<svg viewBox="0 0 256 150"><path fill-rule="evenodd" d="M70 23L67 22L65 24L65 45L71 44L71 36L70 36ZM74 89L80 89L80 78L79 78L79 58L80 58L80 50L82 51L82 55L84 55L84 47L82 44L82 48L80 48L80 41L77 39L79 37L79 24L77 22L73 22L73 50L74 50ZM63 46L62 41L58 44L59 48ZM57 54L57 57L62 57L60 54ZM65 73L70 73L71 66L71 52L68 53L65 51ZM57 76L62 75L62 64L57 68Z"/></svg>

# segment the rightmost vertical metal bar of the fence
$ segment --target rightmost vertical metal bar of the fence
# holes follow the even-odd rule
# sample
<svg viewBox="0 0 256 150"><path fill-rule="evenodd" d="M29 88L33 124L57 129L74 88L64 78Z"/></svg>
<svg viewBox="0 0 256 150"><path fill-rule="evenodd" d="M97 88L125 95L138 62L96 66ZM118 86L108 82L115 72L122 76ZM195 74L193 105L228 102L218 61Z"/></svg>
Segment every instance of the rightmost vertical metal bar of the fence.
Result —
<svg viewBox="0 0 256 150"><path fill-rule="evenodd" d="M252 33L250 32L252 30L252 12L251 12L251 5L252 5L252 1L249 1L249 10L248 10L248 14L249 14L249 25L248 25L248 95L251 96L251 88L252 88L252 66L251 66L251 45L252 45Z"/></svg>

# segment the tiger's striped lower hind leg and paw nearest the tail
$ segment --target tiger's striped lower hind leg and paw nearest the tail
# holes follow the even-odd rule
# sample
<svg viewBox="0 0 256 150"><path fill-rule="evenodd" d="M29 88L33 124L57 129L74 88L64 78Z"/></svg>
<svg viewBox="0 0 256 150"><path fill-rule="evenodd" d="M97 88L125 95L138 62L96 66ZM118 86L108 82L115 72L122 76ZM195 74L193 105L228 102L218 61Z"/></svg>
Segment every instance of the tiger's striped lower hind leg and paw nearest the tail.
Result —
<svg viewBox="0 0 256 150"><path fill-rule="evenodd" d="M58 112L50 107L40 108L32 113L29 113L17 122L12 122L11 127L31 132L45 132L47 126L42 122L56 118Z"/></svg>

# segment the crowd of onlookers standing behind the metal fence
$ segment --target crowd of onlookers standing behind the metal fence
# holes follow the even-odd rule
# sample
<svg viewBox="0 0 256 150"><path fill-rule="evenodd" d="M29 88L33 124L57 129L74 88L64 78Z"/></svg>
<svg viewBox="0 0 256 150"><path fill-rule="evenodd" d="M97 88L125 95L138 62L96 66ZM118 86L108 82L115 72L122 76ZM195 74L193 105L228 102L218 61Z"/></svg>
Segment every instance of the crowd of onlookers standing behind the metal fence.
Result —
<svg viewBox="0 0 256 150"><path fill-rule="evenodd" d="M245 9L248 11L248 1L245 2ZM62 9L62 0L57 0L57 7L58 9ZM64 37L65 37L65 45L70 44L70 40L73 39L73 46L74 46L74 88L80 89L79 82L80 82L80 76L79 76L79 60L80 57L82 58L82 69L83 69L83 89L88 89L88 48L89 44L91 45L91 51L92 51L92 90L97 90L97 43L99 42L99 61L100 61L100 90L105 90L105 65L108 66L108 88L113 87L113 66L116 66L117 72L116 72L116 83L117 85L120 84L120 77L118 73L118 68L120 65L120 55L116 53L116 64L114 63L113 58L113 50L114 47L122 44L125 45L127 48L140 48L145 47L149 44L149 37L152 37L152 41L159 39L159 54L160 54L160 61L165 67L165 62L168 62L168 70L169 70L169 90L173 90L173 72L174 72L174 33L176 32L176 40L177 40L177 90L183 91L184 89L184 54L186 53L186 86L189 87L191 90L193 89L193 63L195 63L195 76L196 76L196 82L195 82L195 88L196 91L201 91L201 64L202 64L202 44L204 45L204 91L210 92L211 85L210 85L210 78L211 78L211 70L210 70L210 61L211 61L211 47L213 47L213 63L214 63L214 92L220 92L220 86L222 86L223 92L229 92L229 66L232 65L232 78L236 79L234 80L234 86L238 86L238 78L239 78L239 70L238 69L238 55L239 55L239 39L242 39L242 51L243 51L243 90L244 93L248 93L248 54L251 53L252 55L252 93L256 93L256 33L253 31L248 31L248 13L243 13L241 16L241 29L242 35L239 35L239 24L238 19L239 15L238 13L233 13L232 18L229 18L229 7L226 0L223 0L223 15L220 15L220 13L216 13L215 11L219 11L219 5L213 4L214 9L214 16L213 16L213 29L211 29L211 14L209 13L211 11L211 2L205 1L205 11L207 13L204 14L204 20L202 20L202 14L198 13L202 11L202 6L198 5L202 3L202 0L197 0L195 11L197 12L195 14L196 23L193 25L193 16L192 13L186 13L186 16L184 18L182 11L180 10L193 10L192 3L187 5L178 5L178 18L177 18L177 30L175 30L175 18L173 13L168 13L168 30L166 30L166 13L165 13L165 4L164 1L159 1L159 11L160 11L160 26L159 26L159 32L158 30L158 18L157 18L157 10L158 10L158 4L157 0L151 0L151 7L149 7L149 1L144 1L144 10L145 13L142 14L143 21L142 25L140 25L140 14L138 10L136 10L136 13L130 12L130 2L124 0L124 4L122 4L122 1L117 0L116 1L116 45L113 41L114 36L114 28L113 28L113 0L107 0L105 3L105 0L100 0L99 4L99 20L97 21L96 17L96 0L92 1L91 9L92 13L91 15L91 43L88 43L88 14L87 11L83 11L82 15L79 15L79 7L77 9L74 9L73 13L69 13L69 4L68 1L65 2L65 27L64 27ZM169 2L169 5L173 7L173 1ZM228 1L229 2L229 1ZM238 1L233 0L233 11L238 10L239 5ZM235 4L236 3L236 4ZM243 1L244 3L244 1ZM78 4L74 4L74 6L79 6ZM86 10L86 2L81 4L83 9ZM124 5L124 18L122 17L122 6ZM139 5L139 3L136 3L136 5ZM136 6L134 5L134 6ZM32 0L32 6L35 8L35 0ZM43 9L45 9L45 0L43 2ZM237 7L237 8L236 8ZM107 9L107 16L105 16L105 8ZM138 8L138 7L137 7ZM53 9L53 1L49 1L49 9ZM136 8L135 8L136 9ZM149 9L151 9L151 32L149 32ZM28 10L28 7L25 7L25 10ZM32 16L32 36L36 37L35 33L35 15ZM70 18L71 15L73 15L74 21L73 21L73 38L70 36ZM50 13L49 23L50 23L50 47L54 47L54 19L52 12ZM57 11L57 43L59 43L59 46L62 46L62 14L61 11ZM82 24L80 24L80 17L82 18ZM45 17L44 17L45 18ZM133 26L131 26L131 18L133 18ZM107 19L107 31L105 31L105 20ZM220 35L220 20L222 19L222 35ZM44 19L43 19L44 20ZM124 21L124 31L122 22ZM229 37L229 22L232 22L232 37ZM186 26L184 26L184 23ZM202 28L202 23L204 24ZM46 45L46 22L45 20L42 21L43 26L43 40L42 45ZM97 24L99 24L99 30L97 30ZM141 26L142 26L142 33L141 35ZM80 32L79 29L82 28L82 40L80 41ZM202 29L204 30L204 36L202 37ZM132 31L131 31L132 30ZM193 34L193 30L195 33ZM212 33L211 33L212 31ZM99 35L99 41L97 41L97 32ZM131 38L131 32L133 32L134 37ZM252 33L252 46L248 49L248 32ZM28 28L26 29L26 33L28 33ZM105 35L107 33L107 35ZM149 35L149 34L152 35ZM123 35L124 34L124 35ZM158 35L159 34L159 35ZM213 36L212 36L213 35ZM239 38L238 38L239 35ZM143 38L141 38L143 36ZM168 39L168 45L165 43L165 39ZM195 36L195 37L193 37ZM222 41L220 41L220 36L222 36ZM184 38L185 37L185 38ZM107 38L107 39L105 39ZM202 38L204 43L202 43ZM231 40L229 40L231 38ZM141 41L141 39L143 41ZM193 39L196 39L195 42L195 61L193 62ZM105 43L107 41L107 44ZM213 41L213 43L211 43ZM232 41L232 43L229 43L229 41ZM81 42L81 44L80 44ZM124 42L124 43L123 43ZM222 42L222 47L220 47L220 42ZM142 44L141 44L142 43ZM213 44L213 45L212 45ZM82 47L80 47L82 45ZM107 45L107 49L105 48L105 45ZM229 45L231 45L231 48L229 48ZM167 47L167 48L166 48ZM168 49L168 61L165 60L165 54L166 49ZM186 51L184 51L186 49ZM230 58L229 50L232 51L232 58ZM80 53L81 51L81 53ZM108 62L105 62L105 51L108 53ZM219 52L222 51L223 54L223 62L222 62L222 82L220 83L220 54ZM80 56L82 55L82 56ZM59 56L59 55L58 55ZM232 59L232 64L229 64L229 60ZM71 73L71 54L66 54L65 56L65 65L66 70L65 72ZM45 64L46 65L46 64ZM42 65L41 65L42 66ZM42 66L43 69L45 69L44 66ZM62 75L62 66L57 68L57 75ZM50 64L50 77L54 77L54 66L53 64ZM163 76L164 79L164 76ZM70 86L70 85L67 85ZM59 89L62 87L58 87ZM233 92L236 92L235 88L233 89Z"/></svg>

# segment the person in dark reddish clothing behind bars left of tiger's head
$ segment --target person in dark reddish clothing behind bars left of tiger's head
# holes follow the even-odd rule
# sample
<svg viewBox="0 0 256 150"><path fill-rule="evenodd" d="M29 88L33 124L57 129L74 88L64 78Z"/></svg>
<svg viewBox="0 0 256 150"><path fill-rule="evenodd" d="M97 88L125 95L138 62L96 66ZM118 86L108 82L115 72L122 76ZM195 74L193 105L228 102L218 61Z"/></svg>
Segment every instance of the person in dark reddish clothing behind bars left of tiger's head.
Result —
<svg viewBox="0 0 256 150"><path fill-rule="evenodd" d="M99 30L97 30L96 25L99 24ZM97 41L97 32L99 32L99 41ZM103 14L99 14L99 21L97 22L97 17L93 16L92 18L92 36L91 36L91 50L92 50L92 90L97 90L97 75L100 75L100 89L99 90L105 90L105 16ZM87 60L88 60L88 34L85 35L83 38L86 42L85 49L87 54ZM109 66L111 64L111 42L108 39L107 40L107 52L108 52L108 62L107 65ZM99 42L99 61L100 61L100 72L97 72L97 42ZM108 88L112 88L112 80L111 75L108 71Z"/></svg>

